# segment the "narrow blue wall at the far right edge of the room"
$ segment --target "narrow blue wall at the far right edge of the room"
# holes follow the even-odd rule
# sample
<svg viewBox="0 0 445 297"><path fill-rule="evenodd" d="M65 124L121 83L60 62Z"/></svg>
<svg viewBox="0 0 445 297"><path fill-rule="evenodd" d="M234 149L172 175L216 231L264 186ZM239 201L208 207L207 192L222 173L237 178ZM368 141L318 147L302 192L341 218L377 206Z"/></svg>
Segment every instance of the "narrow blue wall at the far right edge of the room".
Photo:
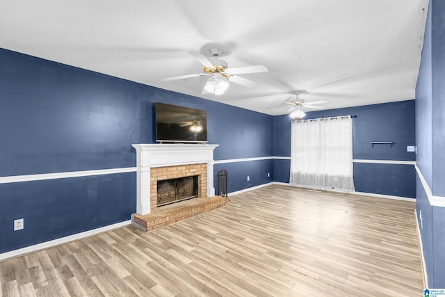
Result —
<svg viewBox="0 0 445 297"><path fill-rule="evenodd" d="M416 86L416 212L421 227L428 287L445 287L445 2L432 0L428 10L421 67ZM428 192L442 206L432 206Z"/></svg>

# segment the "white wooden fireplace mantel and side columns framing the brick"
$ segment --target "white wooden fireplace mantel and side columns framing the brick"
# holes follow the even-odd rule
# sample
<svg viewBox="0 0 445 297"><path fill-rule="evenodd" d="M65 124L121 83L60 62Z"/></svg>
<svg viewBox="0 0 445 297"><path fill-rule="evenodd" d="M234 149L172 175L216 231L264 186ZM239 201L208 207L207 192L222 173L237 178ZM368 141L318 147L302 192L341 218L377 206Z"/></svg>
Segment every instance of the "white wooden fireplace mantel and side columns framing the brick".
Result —
<svg viewBox="0 0 445 297"><path fill-rule="evenodd" d="M150 168L207 163L207 197L215 195L213 187L213 150L207 144L134 144L136 149L136 212L150 213Z"/></svg>

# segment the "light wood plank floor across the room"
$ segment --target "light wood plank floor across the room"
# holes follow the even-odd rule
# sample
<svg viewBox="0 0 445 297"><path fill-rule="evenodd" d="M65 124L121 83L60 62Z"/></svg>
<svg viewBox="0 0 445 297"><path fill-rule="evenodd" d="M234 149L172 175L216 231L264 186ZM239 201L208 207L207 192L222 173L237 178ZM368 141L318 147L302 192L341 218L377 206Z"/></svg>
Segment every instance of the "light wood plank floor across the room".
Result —
<svg viewBox="0 0 445 297"><path fill-rule="evenodd" d="M422 296L414 202L268 186L0 262L0 296Z"/></svg>

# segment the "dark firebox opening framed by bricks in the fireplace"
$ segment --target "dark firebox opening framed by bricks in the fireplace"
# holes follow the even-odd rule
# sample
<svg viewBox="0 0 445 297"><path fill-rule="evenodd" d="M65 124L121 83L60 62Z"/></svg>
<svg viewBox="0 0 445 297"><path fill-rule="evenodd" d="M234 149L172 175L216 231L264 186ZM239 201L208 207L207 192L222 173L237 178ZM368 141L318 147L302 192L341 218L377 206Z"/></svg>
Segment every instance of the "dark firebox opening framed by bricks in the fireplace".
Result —
<svg viewBox="0 0 445 297"><path fill-rule="evenodd" d="M158 181L158 207L197 197L198 175Z"/></svg>

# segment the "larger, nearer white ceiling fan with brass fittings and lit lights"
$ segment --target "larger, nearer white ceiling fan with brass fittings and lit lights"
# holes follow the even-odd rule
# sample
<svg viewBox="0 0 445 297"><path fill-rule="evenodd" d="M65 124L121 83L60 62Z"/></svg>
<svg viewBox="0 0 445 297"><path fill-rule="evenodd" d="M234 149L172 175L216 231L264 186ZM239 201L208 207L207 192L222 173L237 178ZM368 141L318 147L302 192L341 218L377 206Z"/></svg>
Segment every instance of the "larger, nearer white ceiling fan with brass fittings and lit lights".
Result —
<svg viewBox="0 0 445 297"><path fill-rule="evenodd" d="M258 85L258 83L251 81L250 79L238 77L235 74L268 72L268 68L264 65L229 68L226 61L218 59L221 52L222 51L219 47L212 47L210 49L210 53L213 55L213 58L208 59L197 51L188 51L188 54L191 54L191 56L196 58L197 61L204 65L204 72L181 75L179 77L168 77L162 79L162 81L175 81L177 79L188 79L191 77L202 77L209 75L211 77L207 80L207 83L204 86L204 90L202 90L202 94L210 93L221 95L225 93L225 90L227 90L227 88L229 88L228 81L238 83L239 85L248 88L254 88Z"/></svg>

